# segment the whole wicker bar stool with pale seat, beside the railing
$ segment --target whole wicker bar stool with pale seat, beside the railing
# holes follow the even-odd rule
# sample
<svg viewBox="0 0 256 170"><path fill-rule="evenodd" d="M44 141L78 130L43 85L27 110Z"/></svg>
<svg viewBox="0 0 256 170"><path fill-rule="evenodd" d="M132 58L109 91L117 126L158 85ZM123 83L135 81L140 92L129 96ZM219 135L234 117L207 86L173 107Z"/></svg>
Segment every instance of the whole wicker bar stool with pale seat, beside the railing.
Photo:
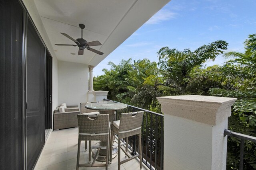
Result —
<svg viewBox="0 0 256 170"><path fill-rule="evenodd" d="M132 160L134 158L140 158L140 169L142 169L142 144L141 144L141 124L144 111L138 111L134 113L121 113L120 120L114 121L111 126L111 135L116 133L118 135L118 170L120 170L120 165ZM110 135L110 136L111 136ZM133 135L139 135L139 154L134 156L129 156L128 150L128 137ZM125 139L126 143L121 144L121 139ZM113 138L110 139L110 163L112 162L112 148L113 148ZM125 150L121 145L126 144ZM121 149L124 151L127 159L120 161Z"/></svg>

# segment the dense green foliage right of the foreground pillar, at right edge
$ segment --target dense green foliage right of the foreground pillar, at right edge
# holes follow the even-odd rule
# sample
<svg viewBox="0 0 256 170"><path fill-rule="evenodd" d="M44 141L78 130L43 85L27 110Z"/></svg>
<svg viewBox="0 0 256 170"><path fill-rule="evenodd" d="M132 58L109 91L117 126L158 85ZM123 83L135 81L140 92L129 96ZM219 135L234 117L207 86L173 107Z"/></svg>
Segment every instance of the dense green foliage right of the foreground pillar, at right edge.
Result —
<svg viewBox="0 0 256 170"><path fill-rule="evenodd" d="M232 108L228 127L232 131L255 136L256 133L256 35L244 42L245 52L229 52L232 57L222 66L222 88L211 88L210 95L238 98ZM240 140L228 138L228 169L238 169ZM256 144L245 142L244 169L256 169Z"/></svg>

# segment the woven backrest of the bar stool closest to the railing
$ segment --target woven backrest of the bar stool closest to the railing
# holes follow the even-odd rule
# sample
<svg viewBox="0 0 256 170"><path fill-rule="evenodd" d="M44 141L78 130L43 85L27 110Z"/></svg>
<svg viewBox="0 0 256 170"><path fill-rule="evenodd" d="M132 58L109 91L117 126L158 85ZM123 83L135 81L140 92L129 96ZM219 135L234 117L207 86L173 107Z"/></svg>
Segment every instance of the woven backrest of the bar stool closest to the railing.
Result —
<svg viewBox="0 0 256 170"><path fill-rule="evenodd" d="M144 111L121 113L119 131L129 131L141 127Z"/></svg>

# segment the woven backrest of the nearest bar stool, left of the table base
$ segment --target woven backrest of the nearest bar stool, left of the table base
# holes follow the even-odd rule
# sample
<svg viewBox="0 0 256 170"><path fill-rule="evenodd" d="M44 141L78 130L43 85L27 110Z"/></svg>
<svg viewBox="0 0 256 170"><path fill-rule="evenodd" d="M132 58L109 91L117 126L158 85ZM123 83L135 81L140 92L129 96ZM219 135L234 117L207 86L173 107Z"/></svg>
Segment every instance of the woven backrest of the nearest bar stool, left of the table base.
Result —
<svg viewBox="0 0 256 170"><path fill-rule="evenodd" d="M109 133L109 115L101 114L94 117L77 115L79 133Z"/></svg>

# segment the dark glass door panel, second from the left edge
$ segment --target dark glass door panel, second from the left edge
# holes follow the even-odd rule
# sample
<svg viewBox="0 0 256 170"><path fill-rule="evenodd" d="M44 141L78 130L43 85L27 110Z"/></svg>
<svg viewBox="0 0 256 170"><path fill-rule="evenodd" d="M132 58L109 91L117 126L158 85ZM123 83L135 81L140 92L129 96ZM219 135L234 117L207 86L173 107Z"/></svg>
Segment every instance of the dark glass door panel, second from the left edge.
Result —
<svg viewBox="0 0 256 170"><path fill-rule="evenodd" d="M27 162L32 169L44 145L44 45L30 20L27 35Z"/></svg>

